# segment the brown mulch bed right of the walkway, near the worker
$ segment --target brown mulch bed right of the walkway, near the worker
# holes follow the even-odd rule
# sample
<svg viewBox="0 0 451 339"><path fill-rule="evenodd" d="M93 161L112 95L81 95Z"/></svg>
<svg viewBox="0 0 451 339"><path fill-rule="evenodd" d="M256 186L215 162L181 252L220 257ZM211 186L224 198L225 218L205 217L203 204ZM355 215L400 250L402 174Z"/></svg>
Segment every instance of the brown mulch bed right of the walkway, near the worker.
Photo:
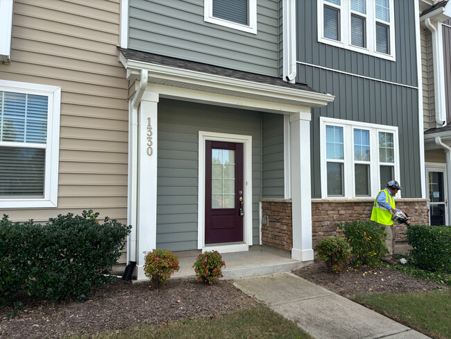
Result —
<svg viewBox="0 0 451 339"><path fill-rule="evenodd" d="M293 274L348 298L352 295L429 291L439 287L438 283L416 279L384 266L347 267L340 274L333 274L327 270L325 263L315 261L312 265L293 271Z"/></svg>

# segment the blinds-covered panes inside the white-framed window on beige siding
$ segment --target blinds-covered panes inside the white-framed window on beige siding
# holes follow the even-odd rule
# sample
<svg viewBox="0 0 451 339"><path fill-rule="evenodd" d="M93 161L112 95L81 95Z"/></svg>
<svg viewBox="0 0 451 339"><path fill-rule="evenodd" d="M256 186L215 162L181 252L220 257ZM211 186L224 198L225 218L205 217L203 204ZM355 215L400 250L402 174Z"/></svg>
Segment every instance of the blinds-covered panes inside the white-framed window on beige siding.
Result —
<svg viewBox="0 0 451 339"><path fill-rule="evenodd" d="M0 198L44 197L48 100L0 92Z"/></svg>

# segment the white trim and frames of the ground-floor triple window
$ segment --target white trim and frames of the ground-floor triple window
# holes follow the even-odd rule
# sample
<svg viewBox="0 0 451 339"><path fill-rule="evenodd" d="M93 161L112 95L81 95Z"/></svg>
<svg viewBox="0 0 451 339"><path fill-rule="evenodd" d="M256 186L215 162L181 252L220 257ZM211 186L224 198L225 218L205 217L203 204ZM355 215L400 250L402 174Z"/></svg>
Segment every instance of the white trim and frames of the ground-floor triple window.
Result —
<svg viewBox="0 0 451 339"><path fill-rule="evenodd" d="M325 142L325 126L343 127L343 189L344 194L340 197L327 197L327 159L326 159L326 142ZM393 133L393 147L395 163L393 180L399 181L400 178L400 161L399 161L399 139L397 126L385 126L379 124L369 124L366 122L353 122L350 120L334 119L329 117L320 117L320 151L321 151L321 197L322 199L362 199L366 197L355 195L355 171L354 171L354 133L353 129L366 129L370 131L370 190L371 195L368 198L375 198L380 191L380 161L379 161L379 132ZM359 163L359 162L357 162ZM383 165L383 163L382 163ZM401 192L398 192L398 198Z"/></svg>

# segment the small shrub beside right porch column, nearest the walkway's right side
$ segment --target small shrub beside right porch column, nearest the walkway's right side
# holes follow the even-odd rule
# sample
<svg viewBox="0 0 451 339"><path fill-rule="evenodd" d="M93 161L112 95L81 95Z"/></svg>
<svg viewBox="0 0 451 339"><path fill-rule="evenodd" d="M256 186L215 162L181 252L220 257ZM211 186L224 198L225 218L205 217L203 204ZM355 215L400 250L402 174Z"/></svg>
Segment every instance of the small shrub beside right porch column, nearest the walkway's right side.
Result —
<svg viewBox="0 0 451 339"><path fill-rule="evenodd" d="M339 273L350 257L349 245L343 238L325 238L315 246L318 259L324 261L331 272Z"/></svg>

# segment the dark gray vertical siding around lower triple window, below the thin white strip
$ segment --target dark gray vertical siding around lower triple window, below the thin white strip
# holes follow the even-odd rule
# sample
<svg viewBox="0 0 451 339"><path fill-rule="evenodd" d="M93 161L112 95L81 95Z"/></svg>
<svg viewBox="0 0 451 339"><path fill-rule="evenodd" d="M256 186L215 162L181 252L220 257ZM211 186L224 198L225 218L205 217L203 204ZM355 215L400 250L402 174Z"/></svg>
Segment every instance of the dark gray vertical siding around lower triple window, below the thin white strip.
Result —
<svg viewBox="0 0 451 339"><path fill-rule="evenodd" d="M309 68L312 67L303 65L298 67L298 70L305 69L304 74L309 74ZM348 74L323 72L326 72L323 81L326 81L327 85L320 81L319 86L327 88L327 92L334 94L335 99L327 104L327 108L312 110L312 197L321 198L321 140L319 139L321 116L398 126L401 176L399 179L405 185L402 197L420 197L418 90L368 78L357 78Z"/></svg>

